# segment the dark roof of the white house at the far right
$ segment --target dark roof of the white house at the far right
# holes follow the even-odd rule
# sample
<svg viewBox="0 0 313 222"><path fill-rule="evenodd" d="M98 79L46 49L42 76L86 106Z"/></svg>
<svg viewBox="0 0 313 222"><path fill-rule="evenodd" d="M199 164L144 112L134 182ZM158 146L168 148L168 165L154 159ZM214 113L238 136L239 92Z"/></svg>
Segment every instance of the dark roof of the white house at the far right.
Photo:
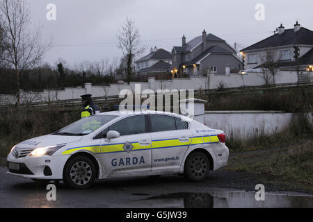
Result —
<svg viewBox="0 0 313 222"><path fill-rule="evenodd" d="M252 44L241 51L264 49L269 47L287 46L295 44L313 45L313 31L301 27L299 31L294 32L294 28L286 29L282 34L275 34L267 37L265 40Z"/></svg>

